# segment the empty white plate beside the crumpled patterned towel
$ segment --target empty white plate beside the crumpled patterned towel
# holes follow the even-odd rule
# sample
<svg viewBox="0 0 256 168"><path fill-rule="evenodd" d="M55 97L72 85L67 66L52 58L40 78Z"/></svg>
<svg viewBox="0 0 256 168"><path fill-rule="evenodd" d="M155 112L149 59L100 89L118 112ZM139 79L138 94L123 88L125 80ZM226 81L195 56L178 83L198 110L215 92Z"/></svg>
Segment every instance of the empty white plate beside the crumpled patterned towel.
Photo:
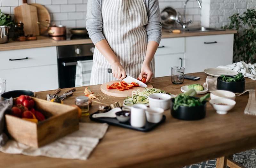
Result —
<svg viewBox="0 0 256 168"><path fill-rule="evenodd" d="M215 77L219 77L220 75L237 75L238 72L231 70L231 69L225 69L225 68L208 68L204 70L204 73L211 75L211 76L215 76Z"/></svg>

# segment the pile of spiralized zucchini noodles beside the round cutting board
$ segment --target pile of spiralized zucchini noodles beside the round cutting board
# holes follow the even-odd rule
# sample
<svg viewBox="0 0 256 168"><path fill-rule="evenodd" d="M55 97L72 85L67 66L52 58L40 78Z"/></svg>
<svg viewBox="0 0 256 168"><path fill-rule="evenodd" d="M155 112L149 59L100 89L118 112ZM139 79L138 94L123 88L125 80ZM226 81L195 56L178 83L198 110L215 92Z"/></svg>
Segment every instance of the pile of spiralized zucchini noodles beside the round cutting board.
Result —
<svg viewBox="0 0 256 168"><path fill-rule="evenodd" d="M133 90L132 91L132 97L127 97L126 99L124 99L124 106L132 106L134 104L145 104L146 106L149 105L149 100L148 100L148 96L152 95L153 93L165 93L165 94L169 94L167 92L165 92L164 90L161 89L157 89L157 88L152 88L152 89L148 89L145 88L145 90L140 91L140 89L138 90ZM171 96L175 96L172 94L169 94Z"/></svg>

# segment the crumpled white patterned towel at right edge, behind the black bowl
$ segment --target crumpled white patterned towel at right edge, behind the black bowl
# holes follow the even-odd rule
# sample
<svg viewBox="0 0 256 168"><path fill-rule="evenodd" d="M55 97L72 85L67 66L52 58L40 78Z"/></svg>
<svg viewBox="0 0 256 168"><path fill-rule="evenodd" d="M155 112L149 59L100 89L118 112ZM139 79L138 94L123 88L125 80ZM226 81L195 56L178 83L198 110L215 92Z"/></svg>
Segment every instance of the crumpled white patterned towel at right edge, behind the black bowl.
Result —
<svg viewBox="0 0 256 168"><path fill-rule="evenodd" d="M218 66L217 68L232 69L238 73L243 73L244 77L256 80L256 64L246 64L245 62L240 61L226 66Z"/></svg>

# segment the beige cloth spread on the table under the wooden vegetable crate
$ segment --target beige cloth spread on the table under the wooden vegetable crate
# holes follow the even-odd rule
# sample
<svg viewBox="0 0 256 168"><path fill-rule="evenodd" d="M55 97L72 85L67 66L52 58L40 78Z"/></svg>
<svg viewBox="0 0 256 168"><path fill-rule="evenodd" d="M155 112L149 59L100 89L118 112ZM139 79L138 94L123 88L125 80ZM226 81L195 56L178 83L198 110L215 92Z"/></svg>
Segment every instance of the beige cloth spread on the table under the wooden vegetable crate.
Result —
<svg viewBox="0 0 256 168"><path fill-rule="evenodd" d="M80 123L78 131L41 148L35 149L17 141L9 140L4 147L0 148L0 151L28 156L86 160L99 140L105 135L107 129L108 124L106 123Z"/></svg>

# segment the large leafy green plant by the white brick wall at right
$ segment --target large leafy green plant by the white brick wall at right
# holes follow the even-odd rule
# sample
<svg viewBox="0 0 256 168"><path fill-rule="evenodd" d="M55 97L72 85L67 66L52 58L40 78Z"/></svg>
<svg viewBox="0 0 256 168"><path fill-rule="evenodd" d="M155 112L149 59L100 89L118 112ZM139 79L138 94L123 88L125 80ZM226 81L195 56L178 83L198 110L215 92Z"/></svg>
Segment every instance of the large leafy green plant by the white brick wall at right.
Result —
<svg viewBox="0 0 256 168"><path fill-rule="evenodd" d="M256 11L247 9L243 14L236 13L230 18L226 29L235 29L233 61L256 62Z"/></svg>

